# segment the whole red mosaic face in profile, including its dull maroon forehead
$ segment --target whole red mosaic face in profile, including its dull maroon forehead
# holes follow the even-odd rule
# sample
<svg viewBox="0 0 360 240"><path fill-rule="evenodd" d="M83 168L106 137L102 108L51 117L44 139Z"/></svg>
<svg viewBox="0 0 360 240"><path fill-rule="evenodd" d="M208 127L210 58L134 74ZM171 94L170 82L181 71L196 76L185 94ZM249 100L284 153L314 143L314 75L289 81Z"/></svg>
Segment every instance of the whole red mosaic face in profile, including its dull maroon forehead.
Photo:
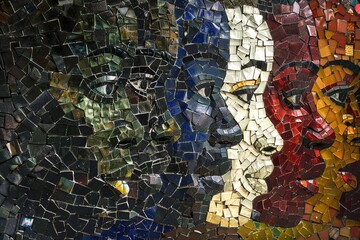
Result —
<svg viewBox="0 0 360 240"><path fill-rule="evenodd" d="M300 1L293 6L273 4L273 12L267 23L275 42L276 64L263 99L284 146L272 155L274 171L266 179L269 193L255 198L253 218L292 227L303 217L305 201L318 190L315 179L325 168L320 150L331 146L334 133L317 113L311 93L319 59L308 45L317 40L310 8ZM285 19L289 21L281 25Z"/></svg>

